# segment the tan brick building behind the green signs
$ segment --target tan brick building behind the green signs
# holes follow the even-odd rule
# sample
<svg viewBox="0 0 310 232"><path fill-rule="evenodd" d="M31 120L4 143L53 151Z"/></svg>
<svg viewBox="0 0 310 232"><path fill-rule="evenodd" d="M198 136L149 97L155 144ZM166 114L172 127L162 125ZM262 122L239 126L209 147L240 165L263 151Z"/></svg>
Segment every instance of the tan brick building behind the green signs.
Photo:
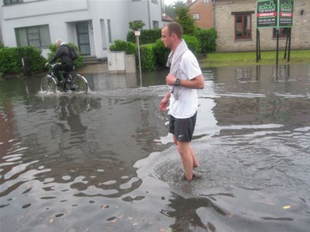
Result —
<svg viewBox="0 0 310 232"><path fill-rule="evenodd" d="M256 0L215 0L214 24L217 51L256 50ZM310 1L296 0L293 8L291 49L310 48ZM285 48L287 29L280 29L280 49ZM260 28L260 48L276 49L273 28Z"/></svg>

